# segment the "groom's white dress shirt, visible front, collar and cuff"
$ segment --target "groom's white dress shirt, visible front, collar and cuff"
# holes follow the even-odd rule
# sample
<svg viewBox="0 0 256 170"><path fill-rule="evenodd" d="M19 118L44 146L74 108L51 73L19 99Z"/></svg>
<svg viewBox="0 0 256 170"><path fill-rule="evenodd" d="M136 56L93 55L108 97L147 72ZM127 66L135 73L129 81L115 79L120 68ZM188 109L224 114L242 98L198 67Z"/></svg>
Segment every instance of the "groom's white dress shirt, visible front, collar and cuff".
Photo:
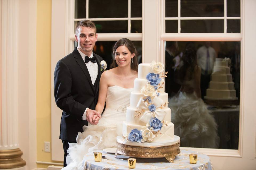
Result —
<svg viewBox="0 0 256 170"><path fill-rule="evenodd" d="M83 58L83 61L85 62L85 54L82 53L78 48L77 48L78 52L80 53L80 55L82 56ZM91 53L91 56L89 56L90 58L93 57L93 53ZM90 74L90 77L91 77L91 82L95 83L95 80L97 78L97 75L98 75L98 64L97 62L96 63L93 63L91 61L89 61L88 63L85 63L88 71L89 71L89 74ZM86 111L87 111L88 108L85 109L85 112L83 113L83 116L82 116L82 120L86 120Z"/></svg>

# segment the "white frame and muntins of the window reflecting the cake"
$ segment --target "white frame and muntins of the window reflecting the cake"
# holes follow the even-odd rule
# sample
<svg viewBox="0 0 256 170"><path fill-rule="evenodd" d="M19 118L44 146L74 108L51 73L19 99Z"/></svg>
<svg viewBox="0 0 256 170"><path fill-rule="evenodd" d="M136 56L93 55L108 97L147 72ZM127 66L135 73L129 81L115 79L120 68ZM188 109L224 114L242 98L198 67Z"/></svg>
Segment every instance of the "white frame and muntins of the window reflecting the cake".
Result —
<svg viewBox="0 0 256 170"><path fill-rule="evenodd" d="M165 63L165 41L241 41L241 68L243 67L243 42L242 42L242 11L243 11L243 0L241 0L241 17L227 17L227 9L226 9L227 0L224 0L224 17L181 17L180 16L180 10L181 10L181 0L178 0L178 17L165 17L165 0L161 0L159 6L160 9L160 19L159 19L159 25L160 25L160 31L159 31L159 39L160 39L160 50L157 60L160 62ZM178 33L165 33L165 20L178 20ZM181 33L181 27L180 22L183 19L224 19L224 33ZM240 19L241 21L241 33L227 33L227 19ZM241 77L243 75L243 69L241 69ZM240 88L242 89L242 81ZM241 91L242 93L242 91ZM240 98L240 103L242 105L242 95ZM210 149L210 148L189 148L189 147L181 147L183 149L189 149L194 150L198 152L202 152L204 154L207 154L209 156L229 156L229 157L238 157L241 158L242 156L242 127L243 127L243 107L240 107L239 111L239 144L238 144L238 150L232 150L232 149Z"/></svg>

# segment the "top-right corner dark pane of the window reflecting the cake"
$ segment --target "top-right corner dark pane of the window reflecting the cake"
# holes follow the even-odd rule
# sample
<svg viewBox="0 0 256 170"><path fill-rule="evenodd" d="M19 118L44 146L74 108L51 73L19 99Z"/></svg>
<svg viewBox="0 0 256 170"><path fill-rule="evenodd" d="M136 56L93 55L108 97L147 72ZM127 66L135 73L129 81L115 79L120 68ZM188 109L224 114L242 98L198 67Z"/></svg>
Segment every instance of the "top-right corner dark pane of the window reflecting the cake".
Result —
<svg viewBox="0 0 256 170"><path fill-rule="evenodd" d="M227 0L227 16L240 16L240 0Z"/></svg>

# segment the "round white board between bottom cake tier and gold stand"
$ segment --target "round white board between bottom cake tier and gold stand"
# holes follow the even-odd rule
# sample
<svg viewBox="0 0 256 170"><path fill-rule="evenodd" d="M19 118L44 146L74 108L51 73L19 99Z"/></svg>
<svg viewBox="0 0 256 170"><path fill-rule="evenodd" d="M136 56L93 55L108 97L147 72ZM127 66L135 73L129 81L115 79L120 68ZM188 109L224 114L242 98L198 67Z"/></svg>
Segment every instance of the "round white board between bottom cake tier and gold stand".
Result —
<svg viewBox="0 0 256 170"><path fill-rule="evenodd" d="M123 136L117 136L117 142L122 143L124 145L130 145L130 146L142 146L142 147L150 147L150 146L169 146L174 145L176 143L180 142L180 138L176 135L174 135L173 140L171 141L158 141L158 142L144 142L144 143L138 143L138 142L131 142L127 141Z"/></svg>

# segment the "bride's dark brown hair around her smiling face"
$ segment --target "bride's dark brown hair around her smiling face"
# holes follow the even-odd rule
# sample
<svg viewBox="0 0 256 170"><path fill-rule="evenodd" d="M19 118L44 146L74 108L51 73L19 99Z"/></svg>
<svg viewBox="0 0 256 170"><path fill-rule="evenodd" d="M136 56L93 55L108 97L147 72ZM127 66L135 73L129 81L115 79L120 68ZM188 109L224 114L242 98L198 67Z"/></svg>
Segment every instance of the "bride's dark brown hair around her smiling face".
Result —
<svg viewBox="0 0 256 170"><path fill-rule="evenodd" d="M119 46L126 46L128 48L128 50L132 53L134 53L134 57L133 57L133 63L131 63L131 69L133 69L134 71L138 72L138 60L137 60L137 51L136 48L133 44L133 42L131 42L131 40L127 39L127 38L122 38L120 40L118 40L115 45L113 46L113 54L115 55L115 50L117 50L117 48ZM115 68L117 67L117 62L115 61L115 59L113 60L113 62L110 65L110 68Z"/></svg>

